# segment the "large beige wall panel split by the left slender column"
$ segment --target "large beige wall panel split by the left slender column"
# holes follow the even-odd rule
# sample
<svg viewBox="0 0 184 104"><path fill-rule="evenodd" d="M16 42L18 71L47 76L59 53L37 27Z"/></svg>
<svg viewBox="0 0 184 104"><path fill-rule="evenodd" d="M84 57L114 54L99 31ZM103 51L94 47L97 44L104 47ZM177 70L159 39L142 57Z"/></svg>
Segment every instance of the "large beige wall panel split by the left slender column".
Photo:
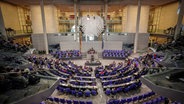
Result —
<svg viewBox="0 0 184 104"><path fill-rule="evenodd" d="M54 5L45 5L44 9L47 33L58 33L56 7ZM31 20L33 34L43 33L41 9L39 5L31 5Z"/></svg>

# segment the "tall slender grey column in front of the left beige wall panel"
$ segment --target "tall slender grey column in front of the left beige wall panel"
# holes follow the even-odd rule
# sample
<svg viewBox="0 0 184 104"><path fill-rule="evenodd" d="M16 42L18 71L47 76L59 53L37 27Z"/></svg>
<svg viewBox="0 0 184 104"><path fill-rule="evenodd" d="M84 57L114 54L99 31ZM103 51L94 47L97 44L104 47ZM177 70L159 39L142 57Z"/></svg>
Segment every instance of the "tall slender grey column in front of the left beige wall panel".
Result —
<svg viewBox="0 0 184 104"><path fill-rule="evenodd" d="M42 25L43 25L43 35L44 35L44 42L45 42L45 51L46 54L49 53L48 50L48 40L47 40L47 30L46 30L46 22L45 22L45 12L44 12L44 2L43 0L40 2L41 7L41 15L42 15Z"/></svg>

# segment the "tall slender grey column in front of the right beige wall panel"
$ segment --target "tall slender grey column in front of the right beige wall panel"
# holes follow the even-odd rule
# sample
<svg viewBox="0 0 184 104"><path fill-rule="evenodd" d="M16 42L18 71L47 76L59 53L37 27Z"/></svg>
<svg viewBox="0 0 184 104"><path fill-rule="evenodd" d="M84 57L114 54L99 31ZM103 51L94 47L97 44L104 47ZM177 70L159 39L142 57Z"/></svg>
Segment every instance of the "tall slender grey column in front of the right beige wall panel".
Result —
<svg viewBox="0 0 184 104"><path fill-rule="evenodd" d="M134 53L137 53L140 14L141 14L141 0L138 0L137 21L136 21L136 33L135 33L135 40L134 40Z"/></svg>

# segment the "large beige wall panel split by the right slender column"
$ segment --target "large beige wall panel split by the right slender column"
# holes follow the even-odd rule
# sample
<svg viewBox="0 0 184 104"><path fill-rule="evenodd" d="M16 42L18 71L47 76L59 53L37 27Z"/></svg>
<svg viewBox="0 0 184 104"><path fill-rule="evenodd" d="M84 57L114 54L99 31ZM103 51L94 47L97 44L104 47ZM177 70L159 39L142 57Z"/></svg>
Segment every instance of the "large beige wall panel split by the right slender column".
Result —
<svg viewBox="0 0 184 104"><path fill-rule="evenodd" d="M140 14L140 33L147 33L148 29L148 19L149 19L149 6L148 5L141 5L141 14ZM128 5L123 9L124 17L126 20L123 20L123 30L124 32L128 33L135 33L136 32L136 21L137 21L137 9L136 5Z"/></svg>

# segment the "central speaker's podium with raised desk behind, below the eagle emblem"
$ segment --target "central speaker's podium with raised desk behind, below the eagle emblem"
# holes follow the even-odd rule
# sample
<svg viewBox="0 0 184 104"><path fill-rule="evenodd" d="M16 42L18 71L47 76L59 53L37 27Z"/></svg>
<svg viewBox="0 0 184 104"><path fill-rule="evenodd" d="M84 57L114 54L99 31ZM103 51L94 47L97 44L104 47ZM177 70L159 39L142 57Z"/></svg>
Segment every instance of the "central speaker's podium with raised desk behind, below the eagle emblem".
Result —
<svg viewBox="0 0 184 104"><path fill-rule="evenodd" d="M87 61L85 62L85 65L88 66L101 65L101 62L98 60L98 53L93 48L87 51Z"/></svg>

